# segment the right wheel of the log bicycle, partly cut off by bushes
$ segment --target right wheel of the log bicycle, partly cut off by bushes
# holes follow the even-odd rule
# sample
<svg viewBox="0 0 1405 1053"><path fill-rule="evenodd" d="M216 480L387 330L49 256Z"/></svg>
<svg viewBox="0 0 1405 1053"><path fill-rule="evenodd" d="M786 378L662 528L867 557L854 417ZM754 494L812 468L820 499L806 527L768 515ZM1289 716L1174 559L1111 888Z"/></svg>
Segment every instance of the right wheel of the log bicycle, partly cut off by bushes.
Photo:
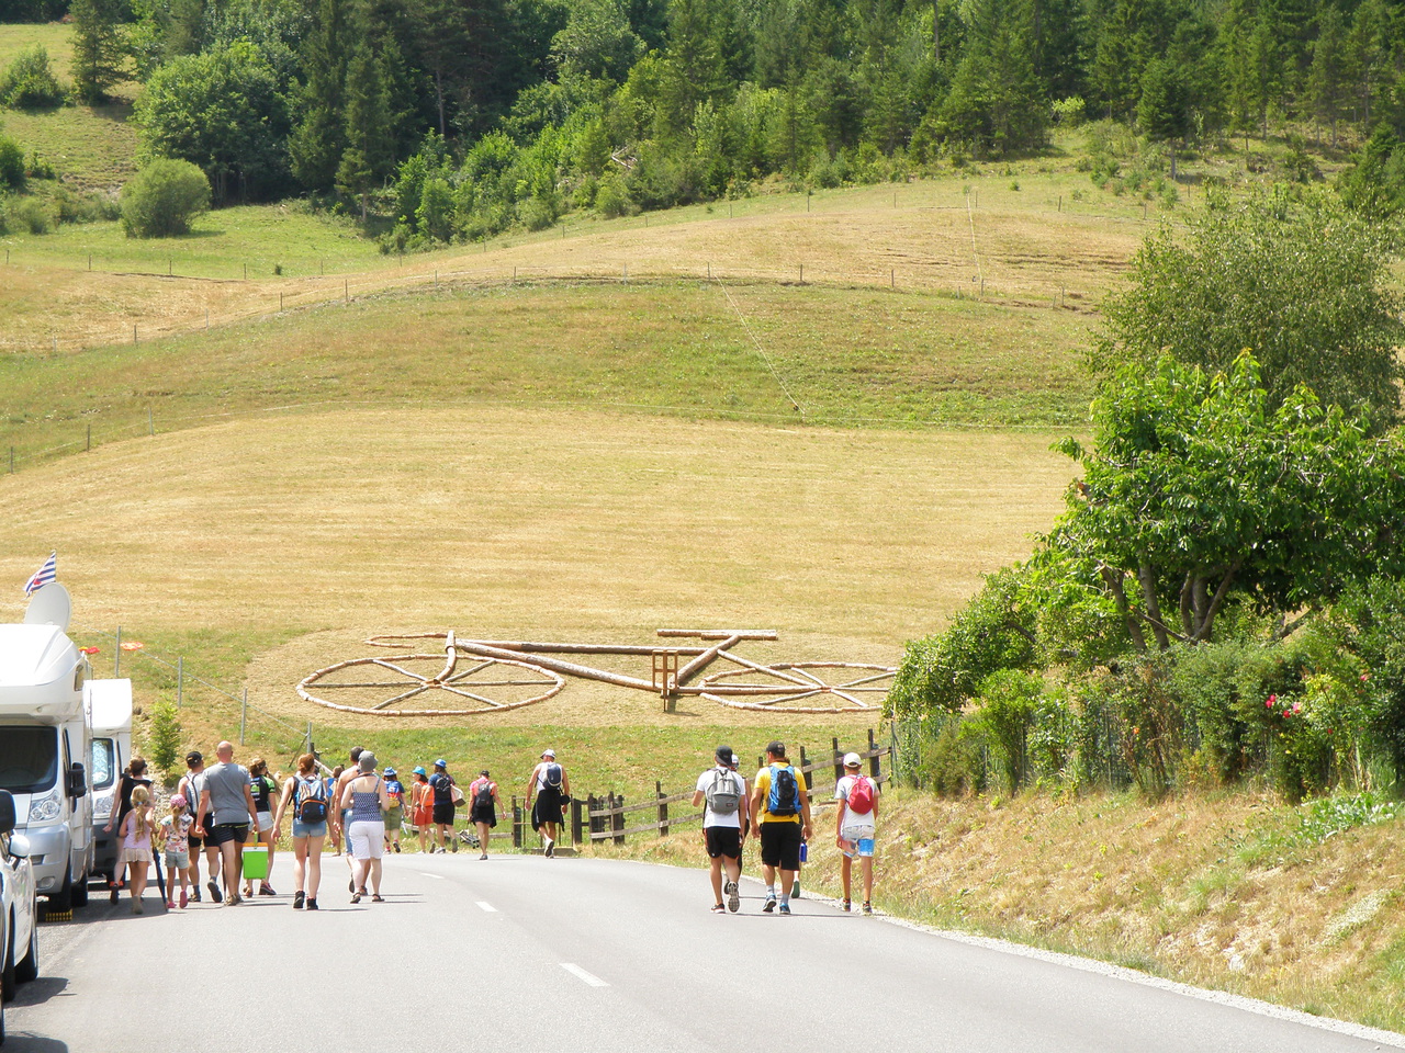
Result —
<svg viewBox="0 0 1405 1053"><path fill-rule="evenodd" d="M753 663L704 677L701 696L733 709L767 713L881 713L898 670L854 661Z"/></svg>

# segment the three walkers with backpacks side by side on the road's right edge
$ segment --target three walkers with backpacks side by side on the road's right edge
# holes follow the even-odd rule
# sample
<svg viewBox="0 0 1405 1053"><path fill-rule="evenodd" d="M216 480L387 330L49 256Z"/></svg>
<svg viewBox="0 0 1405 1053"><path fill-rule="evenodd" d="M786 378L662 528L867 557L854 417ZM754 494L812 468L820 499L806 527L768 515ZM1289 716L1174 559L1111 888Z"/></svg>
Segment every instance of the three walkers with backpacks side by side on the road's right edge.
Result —
<svg viewBox="0 0 1405 1053"><path fill-rule="evenodd" d="M835 786L835 842L840 851L842 906L853 910L853 862L863 875L863 911L873 914L874 838L878 820L878 781L863 774L863 758L844 754L844 774ZM766 764L747 781L729 746L717 747L714 765L704 771L693 793L702 810L702 844L711 863L712 913L740 910L742 849L747 834L760 842L767 914L791 913L799 894L799 869L815 828L805 776L785 757L785 743L766 747ZM777 892L777 880L780 892Z"/></svg>

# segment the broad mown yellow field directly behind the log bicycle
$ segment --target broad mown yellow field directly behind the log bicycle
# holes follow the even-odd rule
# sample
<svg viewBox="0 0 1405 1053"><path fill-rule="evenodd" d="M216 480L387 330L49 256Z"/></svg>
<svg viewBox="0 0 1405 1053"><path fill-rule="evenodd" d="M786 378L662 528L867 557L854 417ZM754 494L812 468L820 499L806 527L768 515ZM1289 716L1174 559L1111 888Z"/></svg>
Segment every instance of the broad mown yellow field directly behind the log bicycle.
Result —
<svg viewBox="0 0 1405 1053"><path fill-rule="evenodd" d="M0 578L56 548L81 625L315 633L250 680L296 719L292 684L379 632L759 626L780 657L895 663L1050 525L1069 466L1047 444L483 407L273 416L4 476ZM6 597L0 616L18 611ZM573 685L497 719L663 720L620 694Z"/></svg>

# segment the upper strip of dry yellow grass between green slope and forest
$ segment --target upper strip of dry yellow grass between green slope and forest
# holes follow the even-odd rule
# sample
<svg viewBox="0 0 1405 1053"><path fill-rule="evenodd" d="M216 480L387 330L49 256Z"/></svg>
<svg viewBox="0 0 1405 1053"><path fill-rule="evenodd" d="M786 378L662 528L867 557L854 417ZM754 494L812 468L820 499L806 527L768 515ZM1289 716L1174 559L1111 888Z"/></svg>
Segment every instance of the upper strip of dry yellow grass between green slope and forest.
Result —
<svg viewBox="0 0 1405 1053"><path fill-rule="evenodd" d="M1092 309L1125 268L1149 229L1132 215L1054 211L1048 195L988 192L967 209L955 178L826 194L805 212L802 195L679 209L649 219L568 220L568 236L499 239L386 260L365 243L351 277L240 279L246 250L222 234L138 246L138 256L89 271L91 230L10 239L11 270L0 286L0 348L35 350L129 341L263 317L278 310L438 282L507 284L521 279L701 278L888 286L984 296L1005 303ZM892 195L898 195L896 206ZM989 204L988 204L989 201ZM1139 215L1139 212L1137 213ZM207 223L218 225L219 213ZM126 249L111 247L110 253ZM228 251L226 265L215 257ZM260 249L259 251L267 251ZM289 251L295 251L291 250ZM344 254L344 250L339 250ZM150 258L140 256L145 253ZM198 258L184 261L187 254ZM303 253L306 254L306 253ZM167 257L174 277L166 277ZM316 271L315 254L309 267ZM183 277L198 274L204 277ZM114 272L117 271L117 272ZM156 271L155 274L133 271ZM280 300L281 296L281 300Z"/></svg>

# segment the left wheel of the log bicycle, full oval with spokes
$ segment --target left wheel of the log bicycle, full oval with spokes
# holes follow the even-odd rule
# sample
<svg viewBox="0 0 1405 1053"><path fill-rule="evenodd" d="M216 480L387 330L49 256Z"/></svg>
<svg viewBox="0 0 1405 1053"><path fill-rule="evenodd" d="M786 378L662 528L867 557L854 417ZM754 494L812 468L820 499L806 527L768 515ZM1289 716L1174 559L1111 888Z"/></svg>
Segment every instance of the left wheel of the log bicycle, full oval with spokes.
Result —
<svg viewBox="0 0 1405 1053"><path fill-rule="evenodd" d="M344 713L479 716L544 702L565 685L562 677L528 661L450 650L339 661L303 677L298 695Z"/></svg>

